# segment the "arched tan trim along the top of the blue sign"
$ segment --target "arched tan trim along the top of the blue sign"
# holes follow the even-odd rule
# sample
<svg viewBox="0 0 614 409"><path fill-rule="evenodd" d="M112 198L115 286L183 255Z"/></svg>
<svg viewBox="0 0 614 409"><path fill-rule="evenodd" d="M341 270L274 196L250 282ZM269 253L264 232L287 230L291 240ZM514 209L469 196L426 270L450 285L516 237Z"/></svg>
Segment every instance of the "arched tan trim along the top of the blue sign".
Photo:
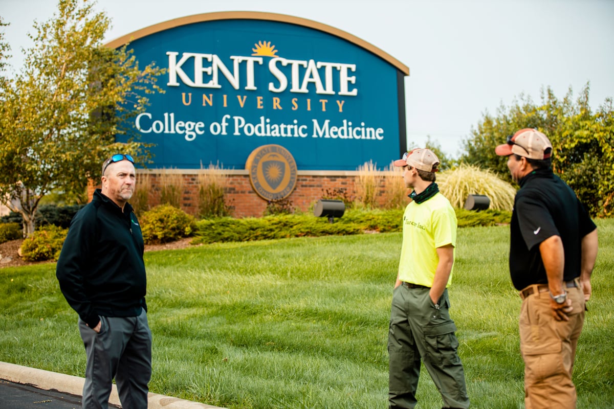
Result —
<svg viewBox="0 0 614 409"><path fill-rule="evenodd" d="M130 34L126 34L125 36L119 37L118 39L112 40L106 44L107 47L110 48L118 48L122 47L122 45L127 44L133 40L140 39L142 37L149 36L158 31L164 31L169 28L184 26L192 23L201 23L202 21L214 21L214 20L268 20L268 21L279 21L281 23L290 23L299 26L305 26L308 28L313 28L319 31L327 32L328 34L332 34L333 36L340 37L344 40L348 40L359 47L368 50L369 52L379 56L379 58L384 59L388 63L395 66L399 71L401 71L405 75L410 75L409 67L402 64L398 59L384 52L375 45L366 42L365 40L359 39L359 37L352 36L349 32L345 32L338 28L334 28L332 26L328 26L322 23L318 23L317 21L307 20L306 18L293 17L290 15L284 14L276 14L276 13L265 13L265 12L216 12L216 13L203 13L203 14L195 14L187 17L174 18L173 20L163 21L162 23L158 23L146 28L139 29L137 31L131 32Z"/></svg>

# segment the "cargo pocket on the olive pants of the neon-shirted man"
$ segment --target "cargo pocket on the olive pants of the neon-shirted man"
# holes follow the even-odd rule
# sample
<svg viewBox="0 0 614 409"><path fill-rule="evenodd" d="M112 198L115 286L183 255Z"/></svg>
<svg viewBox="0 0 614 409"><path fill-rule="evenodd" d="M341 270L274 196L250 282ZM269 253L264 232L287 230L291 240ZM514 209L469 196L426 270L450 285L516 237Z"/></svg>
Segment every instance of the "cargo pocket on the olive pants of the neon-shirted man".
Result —
<svg viewBox="0 0 614 409"><path fill-rule="evenodd" d="M459 342L454 335L454 321L429 325L423 328L427 357L434 365L452 366L461 363L456 353Z"/></svg>

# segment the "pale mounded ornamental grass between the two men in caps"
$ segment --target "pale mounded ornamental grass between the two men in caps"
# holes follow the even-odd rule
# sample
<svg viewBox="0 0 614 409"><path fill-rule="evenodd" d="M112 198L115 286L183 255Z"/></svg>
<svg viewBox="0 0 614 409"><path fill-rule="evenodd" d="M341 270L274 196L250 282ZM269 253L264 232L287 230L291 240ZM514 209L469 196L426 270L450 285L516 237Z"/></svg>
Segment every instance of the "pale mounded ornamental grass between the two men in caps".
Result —
<svg viewBox="0 0 614 409"><path fill-rule="evenodd" d="M508 210L514 207L516 188L505 182L491 170L461 164L437 174L437 185L453 207L464 208L470 194L483 194L491 201L490 209Z"/></svg>

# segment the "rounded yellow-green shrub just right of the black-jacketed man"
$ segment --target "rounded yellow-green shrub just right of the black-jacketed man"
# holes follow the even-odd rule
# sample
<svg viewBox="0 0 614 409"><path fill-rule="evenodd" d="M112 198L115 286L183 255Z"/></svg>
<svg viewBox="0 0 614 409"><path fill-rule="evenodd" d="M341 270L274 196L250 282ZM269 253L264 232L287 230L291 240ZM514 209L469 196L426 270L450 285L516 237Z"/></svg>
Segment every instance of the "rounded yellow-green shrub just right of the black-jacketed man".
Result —
<svg viewBox="0 0 614 409"><path fill-rule="evenodd" d="M159 205L141 216L141 231L146 244L168 243L188 237L195 231L194 216L171 205Z"/></svg>

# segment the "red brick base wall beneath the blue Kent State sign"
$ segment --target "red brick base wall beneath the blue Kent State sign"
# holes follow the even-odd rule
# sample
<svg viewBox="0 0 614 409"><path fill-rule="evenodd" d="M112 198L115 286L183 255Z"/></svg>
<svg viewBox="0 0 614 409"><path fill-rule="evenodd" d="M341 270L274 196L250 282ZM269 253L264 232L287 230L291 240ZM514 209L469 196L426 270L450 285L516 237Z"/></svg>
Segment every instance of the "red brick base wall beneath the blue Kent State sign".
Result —
<svg viewBox="0 0 614 409"><path fill-rule="evenodd" d="M159 172L159 170L158 170ZM198 189L200 188L198 179L198 170L165 170L166 174L172 172L176 175L181 175L183 182L183 196L181 208L186 213L194 215L198 209ZM227 205L234 208L233 216L236 218L243 217L260 217L266 209L268 201L258 196L252 189L249 181L247 170L227 170L226 188L224 197ZM151 207L160 204L161 193L161 174L152 170L139 170L137 175L136 188L139 188L139 175L149 174L149 205ZM297 174L297 184L292 194L287 199L292 202L292 207L301 212L313 211L314 204L326 196L327 191L332 193L338 189L345 189L347 197L356 197L356 179L358 172L352 171L299 171ZM383 182L379 186L378 199L384 201L384 191L386 182L391 177L400 177L400 175L386 175ZM91 201L93 191L100 186L94 186L90 183L88 186L88 197Z"/></svg>

